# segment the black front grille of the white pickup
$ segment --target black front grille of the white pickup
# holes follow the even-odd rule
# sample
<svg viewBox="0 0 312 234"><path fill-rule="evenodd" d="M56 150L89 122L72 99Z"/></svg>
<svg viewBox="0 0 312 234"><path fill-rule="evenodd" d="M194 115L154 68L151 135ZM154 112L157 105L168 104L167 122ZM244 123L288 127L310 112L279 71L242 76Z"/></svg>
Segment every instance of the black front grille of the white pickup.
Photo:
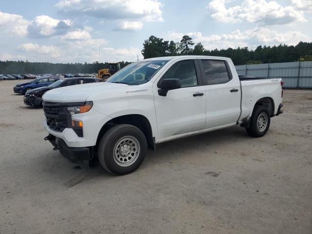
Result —
<svg viewBox="0 0 312 234"><path fill-rule="evenodd" d="M67 112L67 107L58 106L57 103L45 105L43 103L44 115L47 118L49 128L57 132L63 132L69 126L70 114ZM70 126L71 127L71 126Z"/></svg>

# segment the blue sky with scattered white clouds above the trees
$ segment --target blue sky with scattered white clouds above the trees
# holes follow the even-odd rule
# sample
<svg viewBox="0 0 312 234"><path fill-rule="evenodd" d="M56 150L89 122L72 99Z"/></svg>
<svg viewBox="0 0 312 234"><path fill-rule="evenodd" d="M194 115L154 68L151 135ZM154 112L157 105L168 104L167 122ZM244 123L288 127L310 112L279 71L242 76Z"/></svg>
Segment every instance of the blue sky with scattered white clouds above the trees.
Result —
<svg viewBox="0 0 312 234"><path fill-rule="evenodd" d="M136 61L151 35L209 50L295 45L312 41L311 23L312 0L0 0L0 60Z"/></svg>

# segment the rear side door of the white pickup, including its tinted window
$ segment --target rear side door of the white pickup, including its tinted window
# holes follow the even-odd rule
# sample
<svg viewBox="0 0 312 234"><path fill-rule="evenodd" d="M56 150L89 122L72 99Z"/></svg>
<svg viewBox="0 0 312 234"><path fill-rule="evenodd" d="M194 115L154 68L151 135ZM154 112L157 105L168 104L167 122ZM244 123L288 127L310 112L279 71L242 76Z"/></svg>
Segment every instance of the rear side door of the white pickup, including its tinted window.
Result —
<svg viewBox="0 0 312 234"><path fill-rule="evenodd" d="M213 128L234 123L240 115L240 85L232 77L226 60L201 59L200 70L205 84L206 123Z"/></svg>

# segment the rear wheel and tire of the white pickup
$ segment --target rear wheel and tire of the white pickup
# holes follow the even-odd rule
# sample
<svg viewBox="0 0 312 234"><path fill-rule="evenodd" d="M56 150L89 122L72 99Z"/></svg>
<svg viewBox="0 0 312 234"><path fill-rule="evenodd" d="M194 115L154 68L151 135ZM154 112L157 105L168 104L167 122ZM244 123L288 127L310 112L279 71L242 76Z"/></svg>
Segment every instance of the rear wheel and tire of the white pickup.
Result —
<svg viewBox="0 0 312 234"><path fill-rule="evenodd" d="M259 121L258 118L262 118L262 121ZM260 118L261 118L260 117ZM260 119L261 120L261 119ZM253 115L250 120L249 127L246 128L246 132L252 137L262 137L264 136L270 127L271 116L268 108L260 105L254 107Z"/></svg>

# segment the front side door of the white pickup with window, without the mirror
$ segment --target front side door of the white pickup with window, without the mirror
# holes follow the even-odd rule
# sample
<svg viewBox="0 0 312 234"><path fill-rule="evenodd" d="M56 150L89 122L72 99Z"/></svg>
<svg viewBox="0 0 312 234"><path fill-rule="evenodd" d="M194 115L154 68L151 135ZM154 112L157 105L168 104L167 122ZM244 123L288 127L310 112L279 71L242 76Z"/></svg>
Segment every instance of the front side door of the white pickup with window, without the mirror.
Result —
<svg viewBox="0 0 312 234"><path fill-rule="evenodd" d="M178 78L181 88L158 95L157 84L163 79ZM177 61L153 84L158 137L166 138L202 130L205 124L205 89L197 60Z"/></svg>

